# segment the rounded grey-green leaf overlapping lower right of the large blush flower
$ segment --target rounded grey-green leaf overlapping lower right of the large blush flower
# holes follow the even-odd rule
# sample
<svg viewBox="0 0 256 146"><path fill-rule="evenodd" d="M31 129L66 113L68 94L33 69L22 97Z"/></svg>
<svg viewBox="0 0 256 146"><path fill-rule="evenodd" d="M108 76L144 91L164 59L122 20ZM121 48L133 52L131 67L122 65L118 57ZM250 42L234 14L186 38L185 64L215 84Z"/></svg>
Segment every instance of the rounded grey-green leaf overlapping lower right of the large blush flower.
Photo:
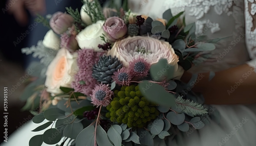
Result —
<svg viewBox="0 0 256 146"><path fill-rule="evenodd" d="M151 65L150 76L155 81L170 80L173 78L173 74L174 66L169 65L166 59L160 59L156 64Z"/></svg>

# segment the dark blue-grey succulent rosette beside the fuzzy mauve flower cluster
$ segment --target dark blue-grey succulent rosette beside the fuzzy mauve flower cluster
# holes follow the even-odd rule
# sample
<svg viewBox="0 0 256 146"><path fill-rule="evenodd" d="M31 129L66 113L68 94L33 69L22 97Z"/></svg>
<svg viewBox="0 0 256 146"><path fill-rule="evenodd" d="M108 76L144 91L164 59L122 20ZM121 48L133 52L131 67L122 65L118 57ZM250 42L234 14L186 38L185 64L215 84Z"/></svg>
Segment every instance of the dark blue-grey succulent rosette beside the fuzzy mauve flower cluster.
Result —
<svg viewBox="0 0 256 146"><path fill-rule="evenodd" d="M98 63L92 68L92 77L103 84L110 84L112 82L111 76L115 71L120 70L123 64L116 57L103 55L100 57Z"/></svg>

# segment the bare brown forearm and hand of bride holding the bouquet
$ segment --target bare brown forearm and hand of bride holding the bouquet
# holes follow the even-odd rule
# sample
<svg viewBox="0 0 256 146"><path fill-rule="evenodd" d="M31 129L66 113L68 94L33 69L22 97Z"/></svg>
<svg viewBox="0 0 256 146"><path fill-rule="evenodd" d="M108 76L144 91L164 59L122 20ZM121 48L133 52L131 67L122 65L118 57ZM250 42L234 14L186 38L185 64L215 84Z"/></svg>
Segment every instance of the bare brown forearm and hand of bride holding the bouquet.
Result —
<svg viewBox="0 0 256 146"><path fill-rule="evenodd" d="M209 73L198 74L192 88L205 98L205 104L230 105L256 103L256 73L247 64L215 73L209 81ZM188 83L192 74L184 72L181 81Z"/></svg>

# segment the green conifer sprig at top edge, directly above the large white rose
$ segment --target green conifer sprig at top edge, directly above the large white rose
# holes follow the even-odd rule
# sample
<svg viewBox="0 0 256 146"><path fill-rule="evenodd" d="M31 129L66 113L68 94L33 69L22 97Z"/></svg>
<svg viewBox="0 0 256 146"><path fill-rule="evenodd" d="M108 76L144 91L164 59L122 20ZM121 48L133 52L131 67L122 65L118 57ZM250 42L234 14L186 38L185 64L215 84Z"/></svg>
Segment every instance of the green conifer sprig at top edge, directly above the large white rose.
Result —
<svg viewBox="0 0 256 146"><path fill-rule="evenodd" d="M105 17L102 13L102 9L99 2L88 2L88 0L82 1L85 5L84 12L86 12L92 20L92 23L96 23L98 20L105 20Z"/></svg>

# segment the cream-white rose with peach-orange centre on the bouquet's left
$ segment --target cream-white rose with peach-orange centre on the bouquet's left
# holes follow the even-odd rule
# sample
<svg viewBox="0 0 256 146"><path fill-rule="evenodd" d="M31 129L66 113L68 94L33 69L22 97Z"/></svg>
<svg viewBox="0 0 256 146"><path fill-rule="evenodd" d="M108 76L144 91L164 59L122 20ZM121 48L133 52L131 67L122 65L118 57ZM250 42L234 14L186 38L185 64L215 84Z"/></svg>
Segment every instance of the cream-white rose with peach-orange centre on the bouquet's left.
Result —
<svg viewBox="0 0 256 146"><path fill-rule="evenodd" d="M77 52L71 54L65 48L59 49L46 71L47 92L60 94L62 93L60 86L71 88L74 75L78 72L77 57Z"/></svg>

